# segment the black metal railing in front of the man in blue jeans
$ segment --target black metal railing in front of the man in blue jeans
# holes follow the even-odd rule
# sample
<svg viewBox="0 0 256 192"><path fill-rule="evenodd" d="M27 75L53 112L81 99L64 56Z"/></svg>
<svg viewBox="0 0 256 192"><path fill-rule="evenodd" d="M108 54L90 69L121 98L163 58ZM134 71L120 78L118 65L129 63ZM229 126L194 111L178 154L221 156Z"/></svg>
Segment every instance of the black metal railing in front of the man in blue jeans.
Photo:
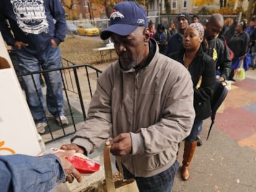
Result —
<svg viewBox="0 0 256 192"><path fill-rule="evenodd" d="M65 116L69 120L69 125L59 125L56 119L49 113L45 112L48 126L46 132L41 135L45 143L49 143L65 136L71 135L77 131L77 123L83 122L86 119L87 106L92 98L93 92L96 88L96 80L99 77L101 70L96 69L87 64L75 65L74 63L62 59L62 67L58 69L40 70L38 72L20 73L15 60L15 53L9 51L14 68L19 78L20 85L23 87L23 78L30 76L33 80L33 85L36 88L35 75L39 74L41 77L41 89L43 95L46 95L45 78L48 73L59 71L61 72L63 97L64 97L64 111ZM48 87L51 90L51 87ZM39 99L38 89L36 88L36 95ZM39 99L40 101L40 99ZM40 101L42 109L43 103ZM56 104L57 106L57 104ZM57 107L56 107L57 109Z"/></svg>

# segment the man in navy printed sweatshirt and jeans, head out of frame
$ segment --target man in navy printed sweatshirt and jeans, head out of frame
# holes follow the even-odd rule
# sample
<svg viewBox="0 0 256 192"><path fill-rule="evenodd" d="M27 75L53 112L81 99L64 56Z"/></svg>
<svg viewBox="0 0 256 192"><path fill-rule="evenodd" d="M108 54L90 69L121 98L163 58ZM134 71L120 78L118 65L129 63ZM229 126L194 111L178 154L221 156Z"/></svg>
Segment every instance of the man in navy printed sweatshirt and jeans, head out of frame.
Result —
<svg viewBox="0 0 256 192"><path fill-rule="evenodd" d="M61 67L58 45L64 41L67 27L65 12L59 0L1 1L0 31L6 43L15 49L21 73ZM48 86L48 110L59 124L67 125L63 109L61 73L46 73L45 80ZM47 123L40 75L33 75L33 78L31 75L23 76L23 82L37 131L43 133Z"/></svg>

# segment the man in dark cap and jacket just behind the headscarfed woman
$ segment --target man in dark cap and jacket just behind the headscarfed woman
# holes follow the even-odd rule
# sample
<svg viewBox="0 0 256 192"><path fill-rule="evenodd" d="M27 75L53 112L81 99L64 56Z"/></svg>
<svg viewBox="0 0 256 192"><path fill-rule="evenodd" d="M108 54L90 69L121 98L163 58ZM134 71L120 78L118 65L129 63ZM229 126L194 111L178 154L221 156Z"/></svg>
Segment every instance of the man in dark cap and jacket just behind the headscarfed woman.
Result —
<svg viewBox="0 0 256 192"><path fill-rule="evenodd" d="M179 14L177 17L178 30L177 33L171 36L168 40L167 47L163 52L164 55L168 56L172 52L177 52L182 44L184 31L189 26L190 17L187 13Z"/></svg>

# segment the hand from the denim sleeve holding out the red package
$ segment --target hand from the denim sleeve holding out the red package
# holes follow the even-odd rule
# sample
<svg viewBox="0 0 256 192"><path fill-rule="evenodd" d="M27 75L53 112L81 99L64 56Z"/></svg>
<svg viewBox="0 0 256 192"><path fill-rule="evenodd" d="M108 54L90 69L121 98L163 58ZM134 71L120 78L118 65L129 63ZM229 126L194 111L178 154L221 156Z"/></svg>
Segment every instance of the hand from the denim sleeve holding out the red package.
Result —
<svg viewBox="0 0 256 192"><path fill-rule="evenodd" d="M61 160L62 168L66 173L66 181L69 183L72 183L74 181L74 178L76 178L77 182L80 183L83 179L82 175L66 159L66 157L72 156L74 154L75 154L75 150L71 150L71 151L64 151L64 152L56 152L54 155L56 155Z"/></svg>

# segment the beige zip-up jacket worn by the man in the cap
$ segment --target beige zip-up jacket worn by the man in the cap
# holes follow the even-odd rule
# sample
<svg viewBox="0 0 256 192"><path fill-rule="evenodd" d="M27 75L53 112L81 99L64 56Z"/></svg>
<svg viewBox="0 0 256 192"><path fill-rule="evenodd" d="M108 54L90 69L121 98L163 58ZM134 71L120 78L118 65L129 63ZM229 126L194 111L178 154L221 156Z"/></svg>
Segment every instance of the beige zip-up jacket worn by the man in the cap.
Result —
<svg viewBox="0 0 256 192"><path fill-rule="evenodd" d="M98 78L88 118L71 141L92 152L109 137L130 133L132 154L122 163L135 177L151 177L176 161L194 122L193 100L187 69L158 48L137 73L122 72L117 61Z"/></svg>

